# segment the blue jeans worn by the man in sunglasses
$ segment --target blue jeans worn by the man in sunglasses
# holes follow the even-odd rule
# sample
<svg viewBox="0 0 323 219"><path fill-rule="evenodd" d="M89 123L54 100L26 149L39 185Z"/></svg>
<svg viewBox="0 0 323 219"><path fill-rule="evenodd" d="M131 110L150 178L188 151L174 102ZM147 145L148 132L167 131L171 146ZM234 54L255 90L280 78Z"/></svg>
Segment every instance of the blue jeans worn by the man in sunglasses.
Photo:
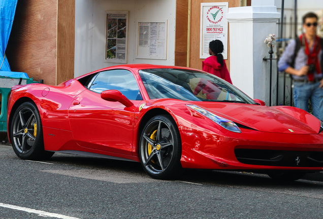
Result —
<svg viewBox="0 0 323 219"><path fill-rule="evenodd" d="M310 100L313 116L323 121L323 88L319 88L319 84L319 82L313 84L294 82L294 104L295 107L308 112L308 100Z"/></svg>

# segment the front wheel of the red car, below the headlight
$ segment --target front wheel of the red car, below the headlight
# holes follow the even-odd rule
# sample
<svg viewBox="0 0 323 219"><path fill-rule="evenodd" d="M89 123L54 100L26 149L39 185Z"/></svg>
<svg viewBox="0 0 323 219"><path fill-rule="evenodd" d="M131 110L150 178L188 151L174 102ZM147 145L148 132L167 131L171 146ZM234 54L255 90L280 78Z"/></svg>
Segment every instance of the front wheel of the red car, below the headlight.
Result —
<svg viewBox="0 0 323 219"><path fill-rule="evenodd" d="M171 116L155 116L146 123L140 136L139 157L148 175L173 178L181 169L181 152L180 134Z"/></svg>

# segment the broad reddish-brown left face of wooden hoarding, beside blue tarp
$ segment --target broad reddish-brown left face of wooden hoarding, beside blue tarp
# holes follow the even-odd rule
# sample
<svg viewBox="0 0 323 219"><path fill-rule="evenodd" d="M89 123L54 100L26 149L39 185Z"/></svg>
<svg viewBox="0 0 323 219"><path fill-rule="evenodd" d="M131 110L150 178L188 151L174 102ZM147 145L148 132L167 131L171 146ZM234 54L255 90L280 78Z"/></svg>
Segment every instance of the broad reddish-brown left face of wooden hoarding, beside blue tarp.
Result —
<svg viewBox="0 0 323 219"><path fill-rule="evenodd" d="M18 1L6 54L12 71L56 83L56 0Z"/></svg>

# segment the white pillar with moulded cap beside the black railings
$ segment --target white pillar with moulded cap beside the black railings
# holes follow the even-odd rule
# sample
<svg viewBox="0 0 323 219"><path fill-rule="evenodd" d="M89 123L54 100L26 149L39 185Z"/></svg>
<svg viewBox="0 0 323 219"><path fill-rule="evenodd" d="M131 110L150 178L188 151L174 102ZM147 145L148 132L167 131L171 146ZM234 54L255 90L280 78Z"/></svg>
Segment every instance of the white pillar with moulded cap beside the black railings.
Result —
<svg viewBox="0 0 323 219"><path fill-rule="evenodd" d="M276 6L249 6L229 8L226 17L230 24L233 85L251 98L261 99L269 105L270 61L263 61L265 56L269 58L269 48L264 41L270 33L275 33L280 13L277 13ZM275 60L273 72L275 75Z"/></svg>

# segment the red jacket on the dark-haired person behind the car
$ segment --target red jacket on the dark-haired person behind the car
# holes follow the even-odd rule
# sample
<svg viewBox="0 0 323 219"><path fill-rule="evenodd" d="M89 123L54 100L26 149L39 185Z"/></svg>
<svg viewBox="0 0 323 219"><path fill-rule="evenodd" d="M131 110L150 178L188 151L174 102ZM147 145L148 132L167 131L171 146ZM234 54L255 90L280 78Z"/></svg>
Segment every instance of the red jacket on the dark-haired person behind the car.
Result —
<svg viewBox="0 0 323 219"><path fill-rule="evenodd" d="M220 63L217 62L217 57L210 56L202 62L202 69L232 84L227 64L225 64L224 59L223 66L221 67Z"/></svg>

